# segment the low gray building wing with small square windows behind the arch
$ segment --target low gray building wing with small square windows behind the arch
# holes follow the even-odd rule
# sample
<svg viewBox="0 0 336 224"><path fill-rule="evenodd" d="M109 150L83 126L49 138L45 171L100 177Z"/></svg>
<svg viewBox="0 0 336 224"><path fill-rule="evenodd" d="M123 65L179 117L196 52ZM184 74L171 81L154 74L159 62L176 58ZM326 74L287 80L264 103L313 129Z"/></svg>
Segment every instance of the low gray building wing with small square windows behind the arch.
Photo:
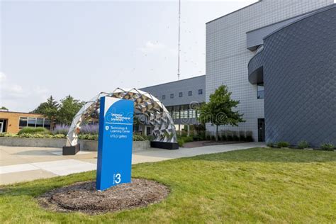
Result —
<svg viewBox="0 0 336 224"><path fill-rule="evenodd" d="M206 101L205 75L148 86L141 90L152 94L166 106L178 131L190 130L191 125L198 125L196 109Z"/></svg>

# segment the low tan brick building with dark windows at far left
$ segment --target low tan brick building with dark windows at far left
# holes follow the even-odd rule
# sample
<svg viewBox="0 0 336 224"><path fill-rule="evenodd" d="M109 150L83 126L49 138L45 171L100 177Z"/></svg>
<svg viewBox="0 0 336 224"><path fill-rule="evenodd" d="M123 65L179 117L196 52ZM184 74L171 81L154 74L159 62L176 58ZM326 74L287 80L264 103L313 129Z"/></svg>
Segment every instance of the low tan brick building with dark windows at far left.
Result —
<svg viewBox="0 0 336 224"><path fill-rule="evenodd" d="M18 133L24 127L50 129L50 119L39 113L0 111L0 133Z"/></svg>

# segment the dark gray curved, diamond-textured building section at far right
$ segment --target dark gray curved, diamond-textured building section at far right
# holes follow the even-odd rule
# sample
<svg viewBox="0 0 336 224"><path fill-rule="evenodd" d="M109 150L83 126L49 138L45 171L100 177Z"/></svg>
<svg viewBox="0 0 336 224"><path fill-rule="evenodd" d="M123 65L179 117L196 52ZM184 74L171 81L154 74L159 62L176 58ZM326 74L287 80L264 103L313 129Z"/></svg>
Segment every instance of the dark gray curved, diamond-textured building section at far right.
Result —
<svg viewBox="0 0 336 224"><path fill-rule="evenodd" d="M267 142L336 143L335 28L332 4L264 37L250 60L250 83L264 84Z"/></svg>

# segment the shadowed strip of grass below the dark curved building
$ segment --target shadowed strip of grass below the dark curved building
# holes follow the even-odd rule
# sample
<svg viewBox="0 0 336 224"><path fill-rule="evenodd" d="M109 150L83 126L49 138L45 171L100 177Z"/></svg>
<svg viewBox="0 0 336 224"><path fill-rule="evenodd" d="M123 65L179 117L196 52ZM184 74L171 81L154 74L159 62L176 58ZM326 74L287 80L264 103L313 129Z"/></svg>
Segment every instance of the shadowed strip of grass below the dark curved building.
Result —
<svg viewBox="0 0 336 224"><path fill-rule="evenodd" d="M199 155L186 159L217 162L336 162L336 152L254 148L211 155Z"/></svg>

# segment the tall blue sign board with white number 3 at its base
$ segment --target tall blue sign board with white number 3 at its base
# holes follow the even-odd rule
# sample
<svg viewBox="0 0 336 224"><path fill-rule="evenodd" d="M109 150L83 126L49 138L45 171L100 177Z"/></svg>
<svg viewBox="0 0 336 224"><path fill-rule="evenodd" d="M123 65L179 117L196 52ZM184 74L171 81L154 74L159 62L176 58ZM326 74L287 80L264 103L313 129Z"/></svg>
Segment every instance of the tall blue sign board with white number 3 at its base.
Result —
<svg viewBox="0 0 336 224"><path fill-rule="evenodd" d="M102 97L96 189L130 183L133 144L133 101Z"/></svg>

